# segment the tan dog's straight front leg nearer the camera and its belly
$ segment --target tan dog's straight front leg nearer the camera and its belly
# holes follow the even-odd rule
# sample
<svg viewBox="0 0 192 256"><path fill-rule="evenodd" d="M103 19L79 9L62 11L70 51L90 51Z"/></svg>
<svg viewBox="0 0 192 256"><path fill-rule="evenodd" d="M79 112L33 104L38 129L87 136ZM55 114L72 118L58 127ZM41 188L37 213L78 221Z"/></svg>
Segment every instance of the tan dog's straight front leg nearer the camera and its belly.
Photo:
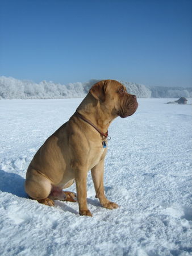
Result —
<svg viewBox="0 0 192 256"><path fill-rule="evenodd" d="M78 169L74 172L77 188L77 201L80 209L80 215L91 216L87 208L87 171Z"/></svg>

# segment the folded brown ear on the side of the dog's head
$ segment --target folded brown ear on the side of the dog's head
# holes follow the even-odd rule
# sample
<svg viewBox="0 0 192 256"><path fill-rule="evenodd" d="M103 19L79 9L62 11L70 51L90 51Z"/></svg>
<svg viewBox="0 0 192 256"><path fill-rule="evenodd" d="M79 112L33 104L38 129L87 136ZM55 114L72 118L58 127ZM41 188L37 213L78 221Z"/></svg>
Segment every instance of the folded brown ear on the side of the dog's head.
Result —
<svg viewBox="0 0 192 256"><path fill-rule="evenodd" d="M97 84L94 84L89 92L93 95L94 98L96 98L99 101L104 102L105 101L105 93L106 93L106 85L107 81L100 81L97 82Z"/></svg>

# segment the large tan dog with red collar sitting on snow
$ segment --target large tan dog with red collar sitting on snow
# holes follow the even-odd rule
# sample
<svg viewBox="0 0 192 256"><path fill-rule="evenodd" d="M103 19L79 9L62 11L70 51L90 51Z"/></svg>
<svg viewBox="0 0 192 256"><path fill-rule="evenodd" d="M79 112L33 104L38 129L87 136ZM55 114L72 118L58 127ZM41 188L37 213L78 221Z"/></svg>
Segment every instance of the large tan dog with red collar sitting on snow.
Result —
<svg viewBox="0 0 192 256"><path fill-rule="evenodd" d="M107 130L115 117L128 117L137 109L135 95L115 80L93 85L76 113L39 148L26 174L25 189L39 203L54 205L54 199L76 201L72 192L62 191L76 181L80 214L92 216L87 208L86 180L91 170L96 197L107 209L118 205L107 200L103 186Z"/></svg>

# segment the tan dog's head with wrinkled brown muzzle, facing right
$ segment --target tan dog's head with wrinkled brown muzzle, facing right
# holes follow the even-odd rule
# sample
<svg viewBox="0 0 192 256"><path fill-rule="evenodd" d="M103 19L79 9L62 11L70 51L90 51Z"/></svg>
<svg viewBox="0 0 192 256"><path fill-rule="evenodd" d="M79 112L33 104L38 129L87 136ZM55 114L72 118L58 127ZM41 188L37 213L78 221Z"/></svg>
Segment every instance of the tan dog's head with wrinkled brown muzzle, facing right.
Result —
<svg viewBox="0 0 192 256"><path fill-rule="evenodd" d="M136 112L138 103L135 95L127 93L127 89L115 80L103 80L94 84L90 91L100 101L103 110L114 116L128 117Z"/></svg>

